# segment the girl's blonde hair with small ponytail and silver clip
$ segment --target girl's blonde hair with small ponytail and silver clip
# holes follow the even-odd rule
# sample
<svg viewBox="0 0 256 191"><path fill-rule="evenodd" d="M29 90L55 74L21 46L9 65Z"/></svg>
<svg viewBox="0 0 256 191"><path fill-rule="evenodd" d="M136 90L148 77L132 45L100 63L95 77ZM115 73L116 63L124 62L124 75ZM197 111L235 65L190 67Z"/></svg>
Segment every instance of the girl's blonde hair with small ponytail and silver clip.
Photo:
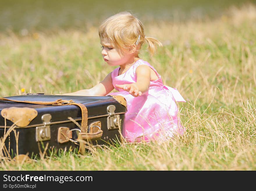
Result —
<svg viewBox="0 0 256 191"><path fill-rule="evenodd" d="M147 41L150 55L157 50L157 45L162 46L157 39L145 36L141 21L129 12L121 12L106 19L99 26L99 38L107 38L111 43L123 49L129 49L136 44L139 45L138 50Z"/></svg>

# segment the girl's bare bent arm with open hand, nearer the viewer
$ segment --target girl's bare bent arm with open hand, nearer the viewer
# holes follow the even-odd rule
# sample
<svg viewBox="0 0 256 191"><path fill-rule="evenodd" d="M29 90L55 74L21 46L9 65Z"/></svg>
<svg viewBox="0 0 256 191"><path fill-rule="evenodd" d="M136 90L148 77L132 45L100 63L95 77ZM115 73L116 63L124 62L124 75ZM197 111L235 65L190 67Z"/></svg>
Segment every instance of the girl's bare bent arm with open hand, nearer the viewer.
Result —
<svg viewBox="0 0 256 191"><path fill-rule="evenodd" d="M139 65L136 68L136 76L136 83L123 85L116 84L116 87L129 92L134 97L141 96L148 91L150 86L150 67L147 65Z"/></svg>

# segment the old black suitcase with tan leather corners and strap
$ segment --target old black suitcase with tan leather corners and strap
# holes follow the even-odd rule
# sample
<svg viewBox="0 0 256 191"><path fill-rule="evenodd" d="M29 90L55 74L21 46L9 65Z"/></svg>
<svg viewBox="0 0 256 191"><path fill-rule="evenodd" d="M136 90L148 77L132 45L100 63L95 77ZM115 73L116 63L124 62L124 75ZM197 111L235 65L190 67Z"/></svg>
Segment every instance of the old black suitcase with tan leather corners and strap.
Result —
<svg viewBox="0 0 256 191"><path fill-rule="evenodd" d="M125 135L122 96L28 94L0 98L0 111L0 154L11 158L39 156L46 146L46 154L65 147L84 154L90 144L113 144Z"/></svg>

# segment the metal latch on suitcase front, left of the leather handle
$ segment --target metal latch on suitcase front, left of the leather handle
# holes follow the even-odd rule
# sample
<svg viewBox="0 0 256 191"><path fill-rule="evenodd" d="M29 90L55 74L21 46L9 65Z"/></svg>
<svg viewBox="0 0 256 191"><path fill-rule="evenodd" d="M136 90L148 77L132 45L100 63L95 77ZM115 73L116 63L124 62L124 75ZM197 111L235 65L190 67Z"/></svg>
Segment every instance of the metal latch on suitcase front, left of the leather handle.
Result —
<svg viewBox="0 0 256 191"><path fill-rule="evenodd" d="M42 121L44 123L44 126L39 126L35 128L35 140L37 142L51 139L51 130L49 125L51 121L51 115L42 115Z"/></svg>

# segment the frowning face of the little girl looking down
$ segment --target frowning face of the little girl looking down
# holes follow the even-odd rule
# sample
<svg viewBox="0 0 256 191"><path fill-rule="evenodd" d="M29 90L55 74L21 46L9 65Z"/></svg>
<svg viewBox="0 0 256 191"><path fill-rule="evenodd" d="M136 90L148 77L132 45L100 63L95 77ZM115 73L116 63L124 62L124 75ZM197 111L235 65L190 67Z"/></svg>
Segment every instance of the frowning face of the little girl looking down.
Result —
<svg viewBox="0 0 256 191"><path fill-rule="evenodd" d="M118 66L129 63L132 58L132 53L127 50L119 49L117 46L111 44L107 39L101 39L102 45L102 57L106 63L110 66Z"/></svg>

